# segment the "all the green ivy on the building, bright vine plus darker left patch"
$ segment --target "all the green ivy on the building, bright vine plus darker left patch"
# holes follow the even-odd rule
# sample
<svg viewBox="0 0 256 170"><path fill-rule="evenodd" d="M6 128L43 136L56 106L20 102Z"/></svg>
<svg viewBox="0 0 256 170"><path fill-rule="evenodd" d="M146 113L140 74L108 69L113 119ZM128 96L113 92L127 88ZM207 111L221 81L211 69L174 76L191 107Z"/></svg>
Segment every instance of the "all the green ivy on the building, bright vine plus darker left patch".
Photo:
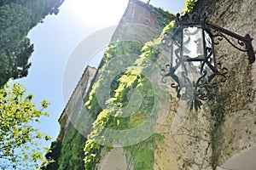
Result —
<svg viewBox="0 0 256 170"><path fill-rule="evenodd" d="M191 12L195 2L196 0L188 0L185 3L182 14ZM164 34L172 34L172 30L175 27L175 15L161 8L148 9L151 10L150 13L157 19L155 26L158 29L164 27L163 31L158 38L151 42L117 41L111 42L108 45L103 57L105 65L99 71L101 77L98 78L90 90L90 94L86 95L84 99L86 103L83 111L88 111L90 117L95 121L90 122L86 117L83 117L82 111L82 114L78 116L75 122L75 127L79 126L85 132L90 133L85 138L74 127L70 127L64 141L61 141L64 133L63 126L67 121L66 119L61 120L61 133L56 143L53 144L54 149L52 149L56 150L57 156L49 153L49 156L56 157L55 163L52 165L58 168L54 167L54 169L96 169L97 164L101 160L102 148L108 151L112 150L112 146L107 139L112 139L116 143L120 142L119 138L115 138L118 137L119 133L115 133L113 136L104 136L106 128L122 131L137 127L148 119L154 122L158 118L156 115L151 114L151 112L155 109L155 93L162 92L153 89L154 84L144 76L143 71L147 71L150 62L157 64L158 55L162 48L162 37ZM131 57L131 54L135 57ZM119 65L125 69L119 72L119 74L114 75L115 73L108 69L108 65L111 65L111 61L120 56L126 56L127 62L132 63L132 65L125 65L125 63L119 61ZM114 78L109 80L109 77L112 76ZM109 84L110 86L108 87ZM102 91L105 88L109 89L106 94L104 94L105 91ZM141 94L140 107L131 116L123 116L125 112L121 109L129 107L132 100L135 100L132 99L130 94L132 89L138 90ZM102 96L106 96L106 98L99 101L97 94L102 92ZM148 131L140 130L135 134L150 133L147 139L124 147L128 169L149 170L154 168L154 141L156 139L163 139L164 136L152 133L154 131L153 128L152 124L149 123L146 128ZM129 137L129 133L124 134L124 138L129 139ZM84 160L82 160L82 157L84 157Z"/></svg>

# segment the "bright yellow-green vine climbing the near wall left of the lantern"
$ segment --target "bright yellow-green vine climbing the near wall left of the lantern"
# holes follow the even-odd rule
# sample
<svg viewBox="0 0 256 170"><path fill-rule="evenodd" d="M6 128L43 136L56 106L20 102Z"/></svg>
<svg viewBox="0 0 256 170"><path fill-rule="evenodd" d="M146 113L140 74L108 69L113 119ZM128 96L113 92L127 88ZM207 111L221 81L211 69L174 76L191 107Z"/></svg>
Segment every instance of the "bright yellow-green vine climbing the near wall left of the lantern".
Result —
<svg viewBox="0 0 256 170"><path fill-rule="evenodd" d="M185 3L185 8L183 13L190 12L195 5L196 0L188 0ZM156 11L154 11L156 12ZM162 11L160 11L162 13ZM169 13L168 13L169 15ZM162 22L162 25L166 25L165 17L158 19ZM174 15L172 15L174 19ZM170 22L170 21L169 21ZM161 25L161 24L160 24ZM172 33L172 29L175 27L175 22L172 21L167 25L159 38L154 39L152 42L146 42L144 45L138 42L112 42L108 46L106 53L104 55L104 60L106 63L111 59L129 54L137 54L138 57L135 59L134 64L128 66L125 71L116 77L111 85L110 96L105 100L107 106L104 109L99 109L99 105L96 100L96 91L102 88L104 84L104 78L101 77L96 85L92 89L90 96L85 104L88 108L90 114L95 117L96 121L93 123L92 131L88 135L88 139L85 144L85 168L95 169L97 163L101 159L101 150L106 147L107 150L111 150L111 144L106 141L109 136L104 136L104 131L106 128L124 130L132 127L137 127L138 125L145 122L146 119L155 120L157 117L155 115L150 115L154 105L154 90L152 88L152 82L150 82L147 77L143 76L143 71L148 66L148 60L156 62L158 59L159 48L161 46L161 39L164 34ZM148 60L147 60L148 59ZM102 67L102 72L105 67ZM109 71L111 74L111 71ZM142 103L140 108L133 113L131 116L122 116L125 114L120 110L129 105L129 92L131 89L136 88L142 94ZM151 129L151 125L148 125L148 129ZM138 131L137 133L148 133ZM116 133L118 136L119 133ZM113 143L119 143L119 138L111 138ZM127 136L126 138L129 138ZM137 144L130 146L125 146L125 152L127 157L128 169L152 169L154 163L154 141L155 139L163 139L163 136L157 133L153 133L148 139L143 140ZM108 146L103 146L108 145Z"/></svg>

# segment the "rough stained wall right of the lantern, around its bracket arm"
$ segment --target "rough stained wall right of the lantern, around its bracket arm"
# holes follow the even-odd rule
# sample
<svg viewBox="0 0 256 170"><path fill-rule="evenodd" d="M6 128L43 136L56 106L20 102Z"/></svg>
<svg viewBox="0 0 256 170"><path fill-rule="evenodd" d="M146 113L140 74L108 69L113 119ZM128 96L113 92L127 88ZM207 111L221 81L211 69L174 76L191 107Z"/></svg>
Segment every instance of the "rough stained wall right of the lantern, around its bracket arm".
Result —
<svg viewBox="0 0 256 170"><path fill-rule="evenodd" d="M234 31L241 36L247 33L253 37L254 54L256 49L256 2L253 0L225 0L215 3L209 9L210 21L216 25ZM207 6L195 11L203 11ZM214 10L218 9L218 10ZM223 41L224 42L224 41ZM237 44L237 43L236 43ZM247 150L256 143L256 65L248 64L247 53L241 53L228 43L222 43L216 49L218 59L230 71L228 82L219 89L221 104L215 107L215 114L223 114L224 119L214 133L214 161L221 165L231 156ZM230 59L227 60L227 59ZM214 108L213 108L214 109Z"/></svg>

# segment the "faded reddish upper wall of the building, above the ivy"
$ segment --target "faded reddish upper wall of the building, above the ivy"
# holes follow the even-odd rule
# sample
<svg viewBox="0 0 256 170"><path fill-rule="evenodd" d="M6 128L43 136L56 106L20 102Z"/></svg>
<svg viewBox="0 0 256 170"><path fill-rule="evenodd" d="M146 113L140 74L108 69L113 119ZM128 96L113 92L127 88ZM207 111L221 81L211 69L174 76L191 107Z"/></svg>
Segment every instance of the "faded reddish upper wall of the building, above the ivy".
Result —
<svg viewBox="0 0 256 170"><path fill-rule="evenodd" d="M173 14L161 8L155 8L140 0L130 0L119 26L113 33L112 41L152 41L159 37L163 27L173 19Z"/></svg>

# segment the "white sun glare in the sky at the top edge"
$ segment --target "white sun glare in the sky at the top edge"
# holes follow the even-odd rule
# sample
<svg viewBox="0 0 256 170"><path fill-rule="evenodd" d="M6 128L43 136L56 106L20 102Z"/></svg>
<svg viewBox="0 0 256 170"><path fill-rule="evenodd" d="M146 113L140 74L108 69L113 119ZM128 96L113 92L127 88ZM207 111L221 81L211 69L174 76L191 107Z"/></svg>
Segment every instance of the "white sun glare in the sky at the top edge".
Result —
<svg viewBox="0 0 256 170"><path fill-rule="evenodd" d="M119 23L128 0L69 0L75 20L90 26L113 26Z"/></svg>

